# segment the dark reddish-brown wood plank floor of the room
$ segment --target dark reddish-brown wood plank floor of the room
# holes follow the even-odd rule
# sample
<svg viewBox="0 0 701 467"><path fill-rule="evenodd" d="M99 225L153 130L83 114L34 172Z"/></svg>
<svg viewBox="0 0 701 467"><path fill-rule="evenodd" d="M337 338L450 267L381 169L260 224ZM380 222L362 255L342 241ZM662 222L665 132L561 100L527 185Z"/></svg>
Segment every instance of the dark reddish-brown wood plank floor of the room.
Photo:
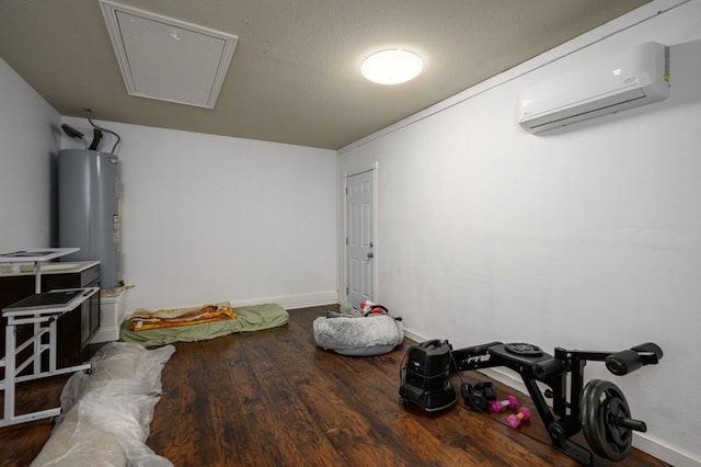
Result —
<svg viewBox="0 0 701 467"><path fill-rule="evenodd" d="M331 308L291 310L281 328L176 344L148 445L175 466L577 465L550 446L537 414L512 430L506 415L473 412L462 400L433 415L403 405L400 366L412 342L375 357L321 350L312 321ZM65 380L23 387L19 407L56 405ZM28 465L50 430L48 420L0 429L0 464ZM635 449L618 464L597 462L666 465Z"/></svg>

